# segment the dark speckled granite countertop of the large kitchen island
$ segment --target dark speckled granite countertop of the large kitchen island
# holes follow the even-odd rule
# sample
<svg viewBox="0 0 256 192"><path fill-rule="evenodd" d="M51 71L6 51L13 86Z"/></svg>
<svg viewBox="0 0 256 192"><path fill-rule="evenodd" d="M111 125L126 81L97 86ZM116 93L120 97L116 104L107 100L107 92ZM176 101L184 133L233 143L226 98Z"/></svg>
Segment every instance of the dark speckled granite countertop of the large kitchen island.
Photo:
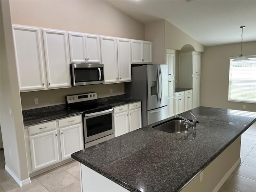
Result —
<svg viewBox="0 0 256 192"><path fill-rule="evenodd" d="M170 134L153 125L72 154L72 158L132 192L180 191L255 121L236 110L198 107L180 114L197 120L197 130ZM194 138L194 139L193 139ZM190 140L190 141L189 141Z"/></svg>

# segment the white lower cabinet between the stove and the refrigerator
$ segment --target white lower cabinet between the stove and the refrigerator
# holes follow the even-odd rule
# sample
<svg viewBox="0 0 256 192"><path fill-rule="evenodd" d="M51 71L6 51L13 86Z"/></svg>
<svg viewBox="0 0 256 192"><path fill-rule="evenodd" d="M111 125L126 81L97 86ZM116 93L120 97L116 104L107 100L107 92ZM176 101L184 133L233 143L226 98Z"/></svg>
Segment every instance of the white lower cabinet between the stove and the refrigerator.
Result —
<svg viewBox="0 0 256 192"><path fill-rule="evenodd" d="M141 128L141 102L114 107L115 137Z"/></svg>

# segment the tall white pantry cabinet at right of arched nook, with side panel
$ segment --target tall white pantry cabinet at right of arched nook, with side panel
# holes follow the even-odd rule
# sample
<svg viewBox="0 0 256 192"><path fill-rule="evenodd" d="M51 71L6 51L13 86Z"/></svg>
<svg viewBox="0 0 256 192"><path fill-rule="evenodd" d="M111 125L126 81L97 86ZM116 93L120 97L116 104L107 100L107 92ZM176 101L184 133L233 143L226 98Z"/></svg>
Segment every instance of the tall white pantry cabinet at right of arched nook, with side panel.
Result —
<svg viewBox="0 0 256 192"><path fill-rule="evenodd" d="M192 88L192 108L199 107L201 53L192 51L179 55L179 86Z"/></svg>

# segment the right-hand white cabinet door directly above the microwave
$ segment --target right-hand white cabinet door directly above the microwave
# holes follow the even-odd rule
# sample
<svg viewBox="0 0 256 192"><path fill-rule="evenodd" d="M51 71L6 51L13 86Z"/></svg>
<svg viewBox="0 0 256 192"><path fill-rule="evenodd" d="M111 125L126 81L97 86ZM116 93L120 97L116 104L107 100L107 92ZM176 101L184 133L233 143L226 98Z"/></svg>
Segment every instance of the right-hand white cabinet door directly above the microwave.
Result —
<svg viewBox="0 0 256 192"><path fill-rule="evenodd" d="M100 36L85 35L87 63L100 63Z"/></svg>

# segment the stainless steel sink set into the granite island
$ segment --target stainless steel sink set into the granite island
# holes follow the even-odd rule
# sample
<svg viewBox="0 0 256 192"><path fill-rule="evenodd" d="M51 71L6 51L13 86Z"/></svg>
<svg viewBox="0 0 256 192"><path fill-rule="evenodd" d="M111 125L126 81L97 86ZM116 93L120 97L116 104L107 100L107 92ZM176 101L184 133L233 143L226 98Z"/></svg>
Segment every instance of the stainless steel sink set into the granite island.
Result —
<svg viewBox="0 0 256 192"><path fill-rule="evenodd" d="M153 126L153 129L168 132L168 133L180 133L186 129L186 126L184 125L184 120L181 119L171 119L168 122L164 122L162 124L158 124ZM199 122L198 122L199 123ZM192 125L188 123L188 128L191 128Z"/></svg>

